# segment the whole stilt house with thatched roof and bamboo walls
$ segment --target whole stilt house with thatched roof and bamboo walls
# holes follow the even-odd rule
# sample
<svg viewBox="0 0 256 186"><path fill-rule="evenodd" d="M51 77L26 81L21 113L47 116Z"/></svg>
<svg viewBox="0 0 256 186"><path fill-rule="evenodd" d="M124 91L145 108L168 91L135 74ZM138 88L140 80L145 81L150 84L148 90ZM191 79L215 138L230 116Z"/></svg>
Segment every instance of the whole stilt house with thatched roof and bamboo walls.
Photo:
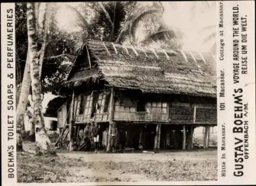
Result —
<svg viewBox="0 0 256 186"><path fill-rule="evenodd" d="M67 78L72 98L59 125L69 114L74 141L91 120L109 128L107 150L114 122L119 148L193 148L195 127L217 125L215 68L210 53L88 40Z"/></svg>

